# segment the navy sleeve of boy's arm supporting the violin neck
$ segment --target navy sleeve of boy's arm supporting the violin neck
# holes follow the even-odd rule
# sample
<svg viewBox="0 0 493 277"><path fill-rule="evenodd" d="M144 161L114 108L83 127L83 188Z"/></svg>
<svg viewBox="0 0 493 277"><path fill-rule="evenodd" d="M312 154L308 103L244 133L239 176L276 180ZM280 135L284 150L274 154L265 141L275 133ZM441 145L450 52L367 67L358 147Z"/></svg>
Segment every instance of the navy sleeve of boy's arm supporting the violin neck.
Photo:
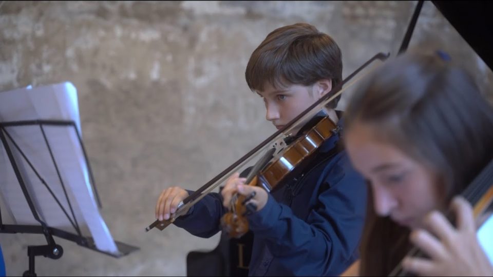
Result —
<svg viewBox="0 0 493 277"><path fill-rule="evenodd" d="M355 260L367 188L344 152L333 162L320 180L326 189L306 221L270 194L266 206L249 215L255 236L265 239L273 256L294 275L339 275Z"/></svg>

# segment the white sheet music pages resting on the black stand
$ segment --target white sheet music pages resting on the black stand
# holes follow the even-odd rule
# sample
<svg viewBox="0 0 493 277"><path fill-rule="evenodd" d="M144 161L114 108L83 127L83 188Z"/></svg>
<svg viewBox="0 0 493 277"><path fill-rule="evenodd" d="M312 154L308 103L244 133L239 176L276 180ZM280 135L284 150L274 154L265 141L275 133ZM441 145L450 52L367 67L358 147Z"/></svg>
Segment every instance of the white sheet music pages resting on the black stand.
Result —
<svg viewBox="0 0 493 277"><path fill-rule="evenodd" d="M82 135L77 90L67 82L33 89L21 88L0 92L0 122L25 120L74 121ZM6 130L45 180L75 224L68 204L70 201L82 234L92 236L99 250L118 253L115 241L99 213L77 132L71 126L45 125L43 128L54 160L59 167L67 197L40 126L6 127ZM8 137L7 141L40 219L50 227L77 234L50 191L39 180ZM1 142L0 146L2 200L7 204L9 213L16 224L40 225L31 213Z"/></svg>

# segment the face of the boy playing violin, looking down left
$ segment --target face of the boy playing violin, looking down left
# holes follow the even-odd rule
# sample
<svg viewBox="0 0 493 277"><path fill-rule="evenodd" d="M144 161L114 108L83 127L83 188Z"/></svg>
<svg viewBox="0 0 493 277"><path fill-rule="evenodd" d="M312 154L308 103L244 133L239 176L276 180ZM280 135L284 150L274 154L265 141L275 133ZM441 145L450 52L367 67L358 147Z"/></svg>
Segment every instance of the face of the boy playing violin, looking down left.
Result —
<svg viewBox="0 0 493 277"><path fill-rule="evenodd" d="M288 85L276 88L268 82L263 91L257 91L266 105L266 119L279 130L331 90L330 81L312 86ZM299 128L303 124L300 124ZM299 129L298 128L298 129ZM296 133L297 130L292 130Z"/></svg>

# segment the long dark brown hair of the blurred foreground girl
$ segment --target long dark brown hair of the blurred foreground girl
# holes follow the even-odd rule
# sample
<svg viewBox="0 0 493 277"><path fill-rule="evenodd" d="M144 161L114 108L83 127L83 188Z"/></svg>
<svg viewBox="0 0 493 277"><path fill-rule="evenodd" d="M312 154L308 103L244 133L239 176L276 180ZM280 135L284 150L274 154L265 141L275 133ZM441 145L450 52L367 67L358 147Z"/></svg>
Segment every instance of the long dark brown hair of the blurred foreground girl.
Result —
<svg viewBox="0 0 493 277"><path fill-rule="evenodd" d="M355 91L345 112L346 131L355 122L374 126L382 141L437 172L445 203L493 157L493 108L471 76L448 60L440 51L396 57ZM406 253L408 231L368 208L361 270L386 275ZM392 247L401 253L384 256Z"/></svg>

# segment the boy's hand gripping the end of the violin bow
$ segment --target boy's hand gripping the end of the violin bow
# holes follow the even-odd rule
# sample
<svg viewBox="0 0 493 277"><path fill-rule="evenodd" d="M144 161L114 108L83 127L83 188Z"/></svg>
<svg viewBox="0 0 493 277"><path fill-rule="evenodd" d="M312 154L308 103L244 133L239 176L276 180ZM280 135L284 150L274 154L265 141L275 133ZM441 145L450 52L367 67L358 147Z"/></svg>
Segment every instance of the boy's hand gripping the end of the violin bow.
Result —
<svg viewBox="0 0 493 277"><path fill-rule="evenodd" d="M188 197L188 191L180 187L170 187L159 195L158 203L156 204L156 219L168 220L172 213L176 212L178 204ZM185 211L185 213L188 209Z"/></svg>

